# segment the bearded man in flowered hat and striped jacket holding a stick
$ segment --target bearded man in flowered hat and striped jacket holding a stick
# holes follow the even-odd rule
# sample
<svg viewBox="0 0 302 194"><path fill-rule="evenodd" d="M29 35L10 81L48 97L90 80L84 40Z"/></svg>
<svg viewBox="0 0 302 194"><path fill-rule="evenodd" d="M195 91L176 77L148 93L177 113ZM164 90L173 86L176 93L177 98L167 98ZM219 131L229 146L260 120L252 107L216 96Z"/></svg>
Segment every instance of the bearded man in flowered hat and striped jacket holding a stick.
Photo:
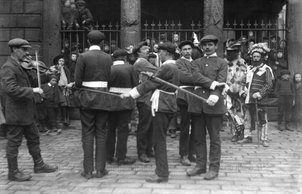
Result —
<svg viewBox="0 0 302 194"><path fill-rule="evenodd" d="M241 81L244 89L239 93L248 107L244 116L244 139L239 140L238 144L252 143L252 127L255 126L255 112L258 111L261 125L260 141L263 147L269 147L266 103L268 92L273 86L274 76L272 69L262 62L263 56L269 51L270 49L264 43L252 46L252 66L247 68L246 76ZM256 103L258 103L258 110L256 110Z"/></svg>

